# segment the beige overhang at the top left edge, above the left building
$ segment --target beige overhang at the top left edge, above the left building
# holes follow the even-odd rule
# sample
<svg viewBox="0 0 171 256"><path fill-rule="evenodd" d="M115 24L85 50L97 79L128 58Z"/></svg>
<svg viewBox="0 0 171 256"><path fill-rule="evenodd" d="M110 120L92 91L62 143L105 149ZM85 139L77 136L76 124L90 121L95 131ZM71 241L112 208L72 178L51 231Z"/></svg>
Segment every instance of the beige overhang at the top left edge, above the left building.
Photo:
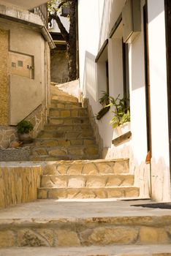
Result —
<svg viewBox="0 0 171 256"><path fill-rule="evenodd" d="M1 1L0 1L1 2ZM41 4L47 3L47 0L5 0L6 4L13 4L26 10L31 10Z"/></svg>

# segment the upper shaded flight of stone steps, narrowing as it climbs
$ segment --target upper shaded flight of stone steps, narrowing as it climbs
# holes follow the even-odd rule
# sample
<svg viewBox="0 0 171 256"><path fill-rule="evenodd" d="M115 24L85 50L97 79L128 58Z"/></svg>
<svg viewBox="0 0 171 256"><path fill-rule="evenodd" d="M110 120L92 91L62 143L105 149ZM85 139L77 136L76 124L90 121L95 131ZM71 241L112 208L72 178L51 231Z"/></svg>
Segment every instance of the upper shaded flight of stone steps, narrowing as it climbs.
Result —
<svg viewBox="0 0 171 256"><path fill-rule="evenodd" d="M32 148L32 161L99 159L99 148L88 117L76 97L52 86L48 123Z"/></svg>

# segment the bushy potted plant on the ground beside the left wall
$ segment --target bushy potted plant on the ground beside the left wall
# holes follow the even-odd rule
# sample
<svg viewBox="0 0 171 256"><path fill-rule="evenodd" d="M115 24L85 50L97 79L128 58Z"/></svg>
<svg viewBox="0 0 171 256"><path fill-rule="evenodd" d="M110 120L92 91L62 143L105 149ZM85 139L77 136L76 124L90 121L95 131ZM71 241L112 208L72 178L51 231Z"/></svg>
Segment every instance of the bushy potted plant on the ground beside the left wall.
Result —
<svg viewBox="0 0 171 256"><path fill-rule="evenodd" d="M17 124L19 139L24 143L31 143L33 139L29 135L29 132L31 132L33 129L34 129L33 124L31 124L30 121L27 121L27 120L20 121Z"/></svg>

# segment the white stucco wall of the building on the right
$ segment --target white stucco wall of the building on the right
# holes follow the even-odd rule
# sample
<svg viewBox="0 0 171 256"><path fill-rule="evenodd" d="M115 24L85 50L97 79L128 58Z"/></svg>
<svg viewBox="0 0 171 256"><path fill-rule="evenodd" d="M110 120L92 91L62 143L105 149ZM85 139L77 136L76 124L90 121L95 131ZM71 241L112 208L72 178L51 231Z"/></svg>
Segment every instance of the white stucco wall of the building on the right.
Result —
<svg viewBox="0 0 171 256"><path fill-rule="evenodd" d="M99 105L99 90L104 82L101 59L95 63L96 55L105 39L109 37L115 21L121 13L125 1L121 0L80 0L79 46L80 46L80 89L88 97L94 113L102 108ZM167 69L164 0L148 0L149 71L151 86L151 169L145 164L148 153L146 100L145 100L145 57L143 32L143 6L141 0L141 32L129 44L129 84L131 108L132 140L113 146L115 131L109 125L111 113L96 121L105 151L103 157L129 157L130 172L135 173L135 184L140 186L141 195L148 196L150 174L152 197L155 200L170 200L170 158L167 111ZM99 10L99 12L95 12ZM88 20L86 15L88 13ZM121 32L121 31L120 31ZM109 39L109 38L108 38ZM109 39L107 45L109 62L110 96L122 94L122 52L119 33ZM101 58L104 58L102 56Z"/></svg>

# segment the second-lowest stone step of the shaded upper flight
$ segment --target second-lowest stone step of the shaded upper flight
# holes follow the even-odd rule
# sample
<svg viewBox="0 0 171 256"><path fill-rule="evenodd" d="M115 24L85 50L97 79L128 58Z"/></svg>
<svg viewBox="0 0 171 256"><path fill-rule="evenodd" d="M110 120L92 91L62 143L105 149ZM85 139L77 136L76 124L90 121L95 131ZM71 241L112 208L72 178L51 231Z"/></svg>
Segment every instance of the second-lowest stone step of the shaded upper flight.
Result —
<svg viewBox="0 0 171 256"><path fill-rule="evenodd" d="M35 146L45 146L45 147L56 147L56 146L91 146L96 145L96 140L94 138L78 138L78 139L66 139L61 138L37 138L34 141Z"/></svg>

